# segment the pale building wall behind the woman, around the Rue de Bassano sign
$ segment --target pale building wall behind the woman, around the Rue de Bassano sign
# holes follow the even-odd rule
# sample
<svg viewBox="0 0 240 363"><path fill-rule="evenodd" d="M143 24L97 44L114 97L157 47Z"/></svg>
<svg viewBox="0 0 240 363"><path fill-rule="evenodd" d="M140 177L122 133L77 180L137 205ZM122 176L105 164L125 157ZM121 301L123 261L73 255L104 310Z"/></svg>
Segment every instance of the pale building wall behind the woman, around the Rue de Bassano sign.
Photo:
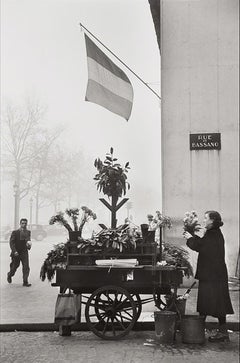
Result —
<svg viewBox="0 0 240 363"><path fill-rule="evenodd" d="M239 1L161 0L160 4L163 212L174 222L165 239L184 244L186 211L197 211L200 219L206 210L219 211L228 270L235 275ZM192 134L195 140L190 144Z"/></svg>

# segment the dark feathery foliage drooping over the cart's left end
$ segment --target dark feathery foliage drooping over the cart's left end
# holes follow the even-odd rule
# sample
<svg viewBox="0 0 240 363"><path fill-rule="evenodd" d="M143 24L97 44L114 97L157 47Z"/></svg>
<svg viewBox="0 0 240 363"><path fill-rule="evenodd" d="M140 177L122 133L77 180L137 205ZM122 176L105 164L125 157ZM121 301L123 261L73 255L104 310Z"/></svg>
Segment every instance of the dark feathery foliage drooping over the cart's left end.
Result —
<svg viewBox="0 0 240 363"><path fill-rule="evenodd" d="M58 243L54 248L48 252L47 258L42 264L40 270L40 279L51 281L55 275L57 268L66 268L67 263L67 246L66 243Z"/></svg>

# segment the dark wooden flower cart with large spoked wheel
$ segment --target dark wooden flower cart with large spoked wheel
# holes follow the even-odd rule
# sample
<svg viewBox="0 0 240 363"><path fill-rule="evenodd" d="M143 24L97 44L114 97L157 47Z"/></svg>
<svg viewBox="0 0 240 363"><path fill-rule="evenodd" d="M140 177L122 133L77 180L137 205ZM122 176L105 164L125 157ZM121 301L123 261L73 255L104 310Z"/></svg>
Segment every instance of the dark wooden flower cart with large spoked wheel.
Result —
<svg viewBox="0 0 240 363"><path fill-rule="evenodd" d="M52 286L59 286L60 292L70 288L80 294L87 326L94 334L108 340L120 339L137 322L143 304L154 301L158 309L166 309L162 296L170 295L171 301L177 297L184 268L161 266L157 263L159 256L157 244L143 242L141 238L136 250L126 254L79 254L69 244L67 267L56 270ZM119 259L133 258L138 265L114 266ZM111 260L112 265L96 265L96 260L101 259ZM70 327L60 326L61 334L64 328L69 335Z"/></svg>

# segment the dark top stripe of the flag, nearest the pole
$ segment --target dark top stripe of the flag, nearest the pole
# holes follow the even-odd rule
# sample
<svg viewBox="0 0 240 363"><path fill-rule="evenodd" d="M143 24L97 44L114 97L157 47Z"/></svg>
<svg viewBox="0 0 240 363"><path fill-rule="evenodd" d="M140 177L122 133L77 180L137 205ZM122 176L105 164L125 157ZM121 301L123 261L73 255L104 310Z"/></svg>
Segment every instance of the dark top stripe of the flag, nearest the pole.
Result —
<svg viewBox="0 0 240 363"><path fill-rule="evenodd" d="M115 76L123 79L124 81L131 84L129 78L126 74L114 64L110 58L106 56L105 53L99 49L94 42L85 34L87 56L94 59L97 63L101 64L104 68L108 69L110 72L115 74Z"/></svg>

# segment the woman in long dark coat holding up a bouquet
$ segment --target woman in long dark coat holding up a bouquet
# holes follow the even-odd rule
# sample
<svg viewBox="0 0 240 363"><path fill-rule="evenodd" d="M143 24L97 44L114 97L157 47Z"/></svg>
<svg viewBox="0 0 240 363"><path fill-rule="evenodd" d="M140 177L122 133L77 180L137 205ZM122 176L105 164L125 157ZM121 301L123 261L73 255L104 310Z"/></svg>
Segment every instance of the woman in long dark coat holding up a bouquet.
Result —
<svg viewBox="0 0 240 363"><path fill-rule="evenodd" d="M218 318L219 331L209 338L210 342L228 341L226 315L234 312L228 290L224 237L220 230L223 222L218 212L207 211L204 224L206 233L202 238L184 232L187 246L199 253L195 275L199 280L197 311L205 319L207 315Z"/></svg>

